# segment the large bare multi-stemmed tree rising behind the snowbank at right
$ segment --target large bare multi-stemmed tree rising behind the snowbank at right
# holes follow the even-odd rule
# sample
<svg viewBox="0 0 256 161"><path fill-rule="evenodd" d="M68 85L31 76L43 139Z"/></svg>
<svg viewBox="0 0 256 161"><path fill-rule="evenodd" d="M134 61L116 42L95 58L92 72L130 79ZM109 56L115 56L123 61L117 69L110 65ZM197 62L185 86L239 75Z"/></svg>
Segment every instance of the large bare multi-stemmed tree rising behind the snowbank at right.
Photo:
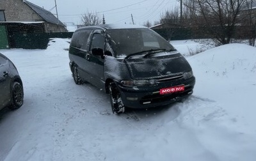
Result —
<svg viewBox="0 0 256 161"><path fill-rule="evenodd" d="M239 22L237 18L246 0L191 0L212 39L219 45L230 43Z"/></svg>

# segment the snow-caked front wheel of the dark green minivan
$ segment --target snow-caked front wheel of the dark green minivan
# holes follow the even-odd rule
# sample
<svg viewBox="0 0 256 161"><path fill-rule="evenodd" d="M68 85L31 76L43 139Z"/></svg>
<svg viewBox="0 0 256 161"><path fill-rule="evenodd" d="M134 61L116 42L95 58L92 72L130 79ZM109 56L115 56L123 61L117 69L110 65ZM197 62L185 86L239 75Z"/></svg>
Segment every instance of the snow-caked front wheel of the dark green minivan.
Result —
<svg viewBox="0 0 256 161"><path fill-rule="evenodd" d="M120 92L114 83L109 84L109 97L113 114L121 114L125 112L125 106L122 102Z"/></svg>

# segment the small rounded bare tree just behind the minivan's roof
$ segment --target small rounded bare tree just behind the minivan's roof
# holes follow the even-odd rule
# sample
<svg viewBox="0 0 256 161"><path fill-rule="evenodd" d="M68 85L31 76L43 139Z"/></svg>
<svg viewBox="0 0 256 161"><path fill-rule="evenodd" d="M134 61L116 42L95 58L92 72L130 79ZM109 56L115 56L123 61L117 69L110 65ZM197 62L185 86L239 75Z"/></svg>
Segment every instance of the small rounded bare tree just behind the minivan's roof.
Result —
<svg viewBox="0 0 256 161"><path fill-rule="evenodd" d="M82 23L84 26L92 26L92 25L98 25L102 22L102 19L99 17L98 13L87 11L84 13L81 17Z"/></svg>

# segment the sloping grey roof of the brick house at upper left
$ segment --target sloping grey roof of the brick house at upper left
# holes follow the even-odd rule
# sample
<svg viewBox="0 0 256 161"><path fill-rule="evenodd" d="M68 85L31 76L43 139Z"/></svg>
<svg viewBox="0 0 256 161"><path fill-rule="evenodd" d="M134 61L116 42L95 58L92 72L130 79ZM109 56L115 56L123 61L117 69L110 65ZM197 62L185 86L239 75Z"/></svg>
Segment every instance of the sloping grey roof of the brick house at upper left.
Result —
<svg viewBox="0 0 256 161"><path fill-rule="evenodd" d="M60 20L58 20L51 11L47 11L44 8L41 8L40 6L36 6L36 4L33 4L29 1L24 1L24 3L28 4L28 6L34 10L42 19L44 19L46 22L50 22L52 24L58 24L60 26L65 26Z"/></svg>

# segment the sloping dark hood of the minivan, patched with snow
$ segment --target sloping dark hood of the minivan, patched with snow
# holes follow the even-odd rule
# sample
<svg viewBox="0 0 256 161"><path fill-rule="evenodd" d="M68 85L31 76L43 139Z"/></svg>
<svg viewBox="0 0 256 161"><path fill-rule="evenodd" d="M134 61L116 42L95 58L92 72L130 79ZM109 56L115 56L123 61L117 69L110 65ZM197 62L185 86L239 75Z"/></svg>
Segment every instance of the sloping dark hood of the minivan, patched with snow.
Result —
<svg viewBox="0 0 256 161"><path fill-rule="evenodd" d="M132 79L170 77L191 71L188 61L180 54L124 59Z"/></svg>

